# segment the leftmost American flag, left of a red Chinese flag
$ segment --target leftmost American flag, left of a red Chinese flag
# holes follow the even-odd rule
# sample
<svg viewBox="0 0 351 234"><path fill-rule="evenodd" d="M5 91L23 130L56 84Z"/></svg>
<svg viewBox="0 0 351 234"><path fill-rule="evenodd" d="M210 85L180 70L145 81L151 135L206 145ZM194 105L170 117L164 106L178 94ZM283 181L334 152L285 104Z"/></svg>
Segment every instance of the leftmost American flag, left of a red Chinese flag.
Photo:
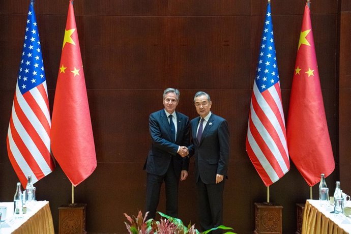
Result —
<svg viewBox="0 0 351 234"><path fill-rule="evenodd" d="M9 124L7 151L23 187L54 169L50 155L50 112L37 20L30 4Z"/></svg>

